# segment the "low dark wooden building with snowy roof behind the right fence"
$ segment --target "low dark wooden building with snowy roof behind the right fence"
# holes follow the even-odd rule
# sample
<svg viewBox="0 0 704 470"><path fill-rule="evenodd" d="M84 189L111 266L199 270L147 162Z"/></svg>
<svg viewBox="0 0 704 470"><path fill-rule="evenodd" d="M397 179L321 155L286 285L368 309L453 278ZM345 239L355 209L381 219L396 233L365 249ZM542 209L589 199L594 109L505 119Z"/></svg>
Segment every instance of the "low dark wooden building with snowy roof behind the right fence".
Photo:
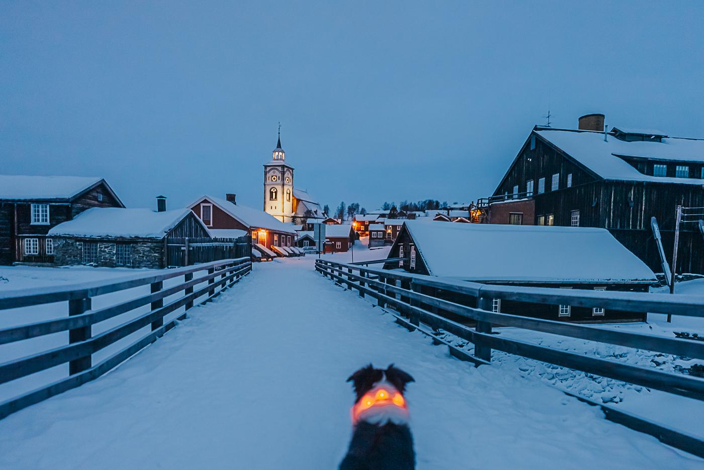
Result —
<svg viewBox="0 0 704 470"><path fill-rule="evenodd" d="M384 269L482 284L647 292L655 274L608 231L408 221ZM455 295L455 294L452 294ZM448 298L476 307L476 298ZM566 322L640 322L646 312L496 299L494 311Z"/></svg>

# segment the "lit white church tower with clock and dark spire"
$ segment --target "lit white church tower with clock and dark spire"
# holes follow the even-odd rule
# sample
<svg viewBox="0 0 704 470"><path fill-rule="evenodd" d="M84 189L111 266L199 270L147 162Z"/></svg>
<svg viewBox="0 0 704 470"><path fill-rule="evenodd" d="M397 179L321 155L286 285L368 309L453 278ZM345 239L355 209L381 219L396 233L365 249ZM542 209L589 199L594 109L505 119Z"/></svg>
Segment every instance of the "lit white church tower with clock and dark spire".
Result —
<svg viewBox="0 0 704 470"><path fill-rule="evenodd" d="M269 163L264 164L264 212L282 222L291 222L294 215L294 167L286 163L286 153L279 140Z"/></svg>

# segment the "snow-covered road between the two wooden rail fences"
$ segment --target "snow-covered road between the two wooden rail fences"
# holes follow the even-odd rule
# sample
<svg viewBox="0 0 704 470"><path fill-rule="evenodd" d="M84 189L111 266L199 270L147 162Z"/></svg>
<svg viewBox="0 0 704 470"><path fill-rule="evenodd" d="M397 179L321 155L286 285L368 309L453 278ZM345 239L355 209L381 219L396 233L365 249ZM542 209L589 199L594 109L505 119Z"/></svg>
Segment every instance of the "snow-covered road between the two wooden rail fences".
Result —
<svg viewBox="0 0 704 470"><path fill-rule="evenodd" d="M0 421L0 469L334 469L347 376L394 362L418 469L701 469L538 380L474 369L313 271L252 274L115 371Z"/></svg>

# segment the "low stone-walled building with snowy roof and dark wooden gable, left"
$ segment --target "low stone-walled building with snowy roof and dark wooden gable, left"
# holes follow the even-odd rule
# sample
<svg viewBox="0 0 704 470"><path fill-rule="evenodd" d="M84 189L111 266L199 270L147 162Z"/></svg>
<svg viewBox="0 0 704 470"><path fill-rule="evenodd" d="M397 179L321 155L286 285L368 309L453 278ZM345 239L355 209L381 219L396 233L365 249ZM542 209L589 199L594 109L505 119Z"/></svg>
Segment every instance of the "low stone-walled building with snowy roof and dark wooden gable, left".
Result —
<svg viewBox="0 0 704 470"><path fill-rule="evenodd" d="M202 241L210 234L191 210L162 208L90 208L58 224L49 231L55 264L151 269L180 265L168 260L169 240Z"/></svg>

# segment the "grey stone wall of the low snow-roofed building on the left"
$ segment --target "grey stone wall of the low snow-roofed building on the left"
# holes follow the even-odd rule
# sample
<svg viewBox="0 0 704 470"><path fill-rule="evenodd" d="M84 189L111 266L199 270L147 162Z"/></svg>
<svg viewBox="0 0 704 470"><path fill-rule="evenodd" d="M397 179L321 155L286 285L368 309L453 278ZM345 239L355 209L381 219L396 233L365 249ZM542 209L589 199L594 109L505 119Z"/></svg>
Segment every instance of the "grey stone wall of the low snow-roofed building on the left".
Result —
<svg viewBox="0 0 704 470"><path fill-rule="evenodd" d="M162 241L114 241L104 239L73 239L64 237L54 238L54 264L56 265L83 265L83 243L97 243L98 256L92 266L116 267L115 245L129 244L132 264L120 267L146 267L161 269L164 258L164 245Z"/></svg>

